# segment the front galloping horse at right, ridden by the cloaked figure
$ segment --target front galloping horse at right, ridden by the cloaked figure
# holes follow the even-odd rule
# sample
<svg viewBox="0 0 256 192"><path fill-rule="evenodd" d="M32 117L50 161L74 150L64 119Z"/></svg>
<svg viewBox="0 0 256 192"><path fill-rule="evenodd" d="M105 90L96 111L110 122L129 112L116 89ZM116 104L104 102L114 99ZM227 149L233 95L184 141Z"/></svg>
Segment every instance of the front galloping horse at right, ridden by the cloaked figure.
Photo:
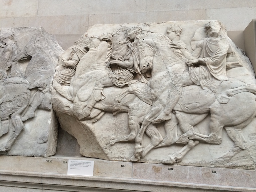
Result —
<svg viewBox="0 0 256 192"><path fill-rule="evenodd" d="M186 145L179 153L173 156L171 155L171 160L164 160L163 163L173 164L180 161L193 146L199 143L198 141L210 144L220 144L223 127L226 129L230 139L235 143L235 147L245 149L245 140L241 135L241 129L247 126L255 117L256 102L254 91L243 88L242 91L234 93L231 97L227 97L225 95L226 93L222 94L223 90L228 91L228 89L232 90L237 87L239 88L240 86L246 87L246 84L241 82L234 87L233 85L236 84L237 81L230 79L224 83L222 82L223 85L217 87L215 93L208 89L202 90L199 86L197 86L197 88L193 87L193 89L184 87L183 92L179 93L179 89L175 90L175 86L179 85L176 84L175 75L171 71L173 62L167 62L168 60L171 61L173 57L174 60L176 60L176 63L174 64L177 64L177 56L175 56L173 51L168 48L166 42L159 44L161 45L159 46L156 42L160 39L161 37L157 37L156 35L155 37L152 36L152 39L145 38L140 42L140 46L138 46L141 70L145 72L151 68L152 77L150 79L150 88L153 91L151 94L154 95L156 101L143 119L140 131L136 136L135 153L133 157L139 159L143 156L142 153L145 149L142 147L142 136L150 123L163 122L166 120L172 121L170 112L168 109L165 109L168 100L172 99L172 94L179 94L181 96L178 103L173 108L174 111L179 112L178 114L207 115L210 113L210 133L209 135L197 133L193 130L189 121L178 118L180 128L185 134L177 140L177 143ZM184 68L185 63L181 59L178 59L178 63L181 65L181 68ZM184 72L185 70L182 71ZM175 92L172 92L171 95L169 95L168 90ZM200 94L196 92L198 90ZM210 97L205 97L205 93ZM192 97L196 98L195 101L191 99ZM195 121L194 125L201 120L201 118L198 118L198 121ZM170 144L170 142L168 144ZM168 144L162 142L160 145L167 146Z"/></svg>

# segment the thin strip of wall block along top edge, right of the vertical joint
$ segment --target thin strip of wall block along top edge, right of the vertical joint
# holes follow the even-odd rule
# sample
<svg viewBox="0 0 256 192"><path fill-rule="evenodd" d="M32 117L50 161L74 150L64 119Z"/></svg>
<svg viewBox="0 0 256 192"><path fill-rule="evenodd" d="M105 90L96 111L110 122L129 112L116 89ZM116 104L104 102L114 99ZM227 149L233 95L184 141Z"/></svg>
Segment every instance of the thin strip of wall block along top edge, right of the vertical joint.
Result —
<svg viewBox="0 0 256 192"><path fill-rule="evenodd" d="M255 0L147 0L147 11L172 11L255 6Z"/></svg>

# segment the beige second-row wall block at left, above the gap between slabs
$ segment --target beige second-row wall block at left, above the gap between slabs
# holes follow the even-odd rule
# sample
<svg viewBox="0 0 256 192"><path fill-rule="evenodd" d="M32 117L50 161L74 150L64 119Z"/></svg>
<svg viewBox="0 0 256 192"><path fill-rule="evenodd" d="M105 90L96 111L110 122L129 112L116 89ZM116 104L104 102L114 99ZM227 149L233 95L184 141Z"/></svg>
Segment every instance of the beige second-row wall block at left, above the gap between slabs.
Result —
<svg viewBox="0 0 256 192"><path fill-rule="evenodd" d="M51 34L83 34L88 15L3 18L0 27L43 27Z"/></svg>

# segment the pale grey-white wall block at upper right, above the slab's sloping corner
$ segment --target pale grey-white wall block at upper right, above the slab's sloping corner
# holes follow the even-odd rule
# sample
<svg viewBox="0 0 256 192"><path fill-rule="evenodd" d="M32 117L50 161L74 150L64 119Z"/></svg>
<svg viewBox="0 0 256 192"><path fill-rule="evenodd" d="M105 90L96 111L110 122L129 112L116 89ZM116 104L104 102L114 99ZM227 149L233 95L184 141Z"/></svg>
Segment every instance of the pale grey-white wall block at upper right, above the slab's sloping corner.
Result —
<svg viewBox="0 0 256 192"><path fill-rule="evenodd" d="M256 1L255 1L256 2ZM207 9L206 19L217 19L223 22L227 31L244 30L256 17L256 7Z"/></svg>

